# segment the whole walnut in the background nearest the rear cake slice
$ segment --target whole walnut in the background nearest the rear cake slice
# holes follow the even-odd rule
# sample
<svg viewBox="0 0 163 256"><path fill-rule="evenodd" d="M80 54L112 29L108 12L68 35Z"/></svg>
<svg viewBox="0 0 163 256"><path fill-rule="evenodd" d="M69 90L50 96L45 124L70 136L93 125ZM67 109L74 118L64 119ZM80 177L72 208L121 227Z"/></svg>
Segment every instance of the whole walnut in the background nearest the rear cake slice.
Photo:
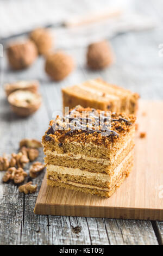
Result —
<svg viewBox="0 0 163 256"><path fill-rule="evenodd" d="M55 81L63 80L74 69L73 58L64 52L48 54L45 71Z"/></svg>

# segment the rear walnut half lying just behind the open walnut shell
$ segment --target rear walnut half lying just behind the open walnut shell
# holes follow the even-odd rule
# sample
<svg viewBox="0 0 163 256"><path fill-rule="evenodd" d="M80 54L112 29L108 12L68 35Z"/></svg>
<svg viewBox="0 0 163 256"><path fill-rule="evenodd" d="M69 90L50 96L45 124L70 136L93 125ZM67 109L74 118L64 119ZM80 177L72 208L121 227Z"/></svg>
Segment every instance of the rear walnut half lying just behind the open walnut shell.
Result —
<svg viewBox="0 0 163 256"><path fill-rule="evenodd" d="M4 90L7 97L10 93L15 92L16 90L29 90L30 92L37 93L38 88L38 81L17 81L4 84Z"/></svg>

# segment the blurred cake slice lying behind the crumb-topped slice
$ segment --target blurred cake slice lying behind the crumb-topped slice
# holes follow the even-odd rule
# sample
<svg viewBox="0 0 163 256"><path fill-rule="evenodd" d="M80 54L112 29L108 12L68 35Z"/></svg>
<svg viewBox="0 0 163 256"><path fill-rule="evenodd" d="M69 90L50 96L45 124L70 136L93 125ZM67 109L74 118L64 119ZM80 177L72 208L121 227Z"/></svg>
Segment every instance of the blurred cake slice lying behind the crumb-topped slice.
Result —
<svg viewBox="0 0 163 256"><path fill-rule="evenodd" d="M80 104L104 111L135 114L139 94L104 82L101 78L89 80L72 87L62 89L64 107Z"/></svg>

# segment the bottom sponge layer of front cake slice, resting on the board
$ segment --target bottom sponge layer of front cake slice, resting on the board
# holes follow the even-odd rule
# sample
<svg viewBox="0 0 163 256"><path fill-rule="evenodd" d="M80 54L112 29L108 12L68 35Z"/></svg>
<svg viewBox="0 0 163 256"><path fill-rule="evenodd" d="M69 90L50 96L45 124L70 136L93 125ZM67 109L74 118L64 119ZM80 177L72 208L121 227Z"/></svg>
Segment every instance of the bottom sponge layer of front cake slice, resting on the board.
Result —
<svg viewBox="0 0 163 256"><path fill-rule="evenodd" d="M110 197L115 192L116 188L119 187L124 181L124 179L129 175L132 168L133 168L133 164L128 166L128 169L121 174L121 176L117 180L117 183L114 186L112 186L110 189L105 187L83 185L83 184L79 184L71 181L64 182L62 180L54 180L53 178L47 179L47 185L52 187L68 188L70 190L79 191L79 192L96 194L97 196L101 196L101 197Z"/></svg>

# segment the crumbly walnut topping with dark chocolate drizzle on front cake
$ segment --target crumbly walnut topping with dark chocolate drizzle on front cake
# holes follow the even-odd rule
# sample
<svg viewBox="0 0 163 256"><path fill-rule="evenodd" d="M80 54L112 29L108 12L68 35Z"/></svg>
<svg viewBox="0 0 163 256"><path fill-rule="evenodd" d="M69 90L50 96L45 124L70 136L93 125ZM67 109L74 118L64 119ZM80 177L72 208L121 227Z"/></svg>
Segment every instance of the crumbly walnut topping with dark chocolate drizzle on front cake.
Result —
<svg viewBox="0 0 163 256"><path fill-rule="evenodd" d="M77 106L71 109L64 118L57 117L50 122L50 127L43 136L43 142L82 141L110 147L135 125L136 117L132 114L103 112L102 118L100 114L99 109Z"/></svg>

